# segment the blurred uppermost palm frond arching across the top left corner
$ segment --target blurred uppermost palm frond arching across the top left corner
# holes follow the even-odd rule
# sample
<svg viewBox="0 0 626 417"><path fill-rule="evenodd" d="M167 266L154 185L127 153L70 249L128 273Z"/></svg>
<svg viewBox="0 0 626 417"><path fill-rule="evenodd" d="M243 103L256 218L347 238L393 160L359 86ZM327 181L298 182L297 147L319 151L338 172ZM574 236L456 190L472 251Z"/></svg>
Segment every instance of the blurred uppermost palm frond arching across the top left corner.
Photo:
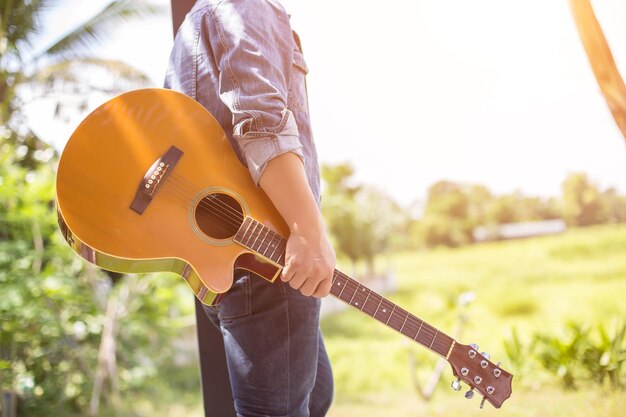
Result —
<svg viewBox="0 0 626 417"><path fill-rule="evenodd" d="M166 8L145 0L114 0L100 13L42 51L37 58L51 60L85 58L91 47L101 44L122 23L133 19L157 16Z"/></svg>

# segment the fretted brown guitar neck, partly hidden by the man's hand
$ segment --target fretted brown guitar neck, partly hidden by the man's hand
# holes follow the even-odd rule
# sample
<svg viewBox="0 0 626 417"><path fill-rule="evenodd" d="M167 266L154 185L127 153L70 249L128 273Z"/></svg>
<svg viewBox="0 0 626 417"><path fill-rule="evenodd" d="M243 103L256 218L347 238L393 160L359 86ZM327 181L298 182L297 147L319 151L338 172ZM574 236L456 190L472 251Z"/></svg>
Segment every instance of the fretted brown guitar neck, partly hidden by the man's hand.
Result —
<svg viewBox="0 0 626 417"><path fill-rule="evenodd" d="M251 217L246 217L234 240L272 263L285 265L287 239ZM333 274L330 293L446 359L456 343L447 334L339 270Z"/></svg>

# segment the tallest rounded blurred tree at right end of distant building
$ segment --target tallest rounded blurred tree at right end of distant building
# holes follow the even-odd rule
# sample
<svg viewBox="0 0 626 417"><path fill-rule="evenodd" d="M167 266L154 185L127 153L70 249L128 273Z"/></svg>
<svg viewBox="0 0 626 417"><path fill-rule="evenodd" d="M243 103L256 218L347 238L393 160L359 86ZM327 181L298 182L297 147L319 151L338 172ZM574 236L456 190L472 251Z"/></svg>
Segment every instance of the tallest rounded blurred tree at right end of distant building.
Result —
<svg viewBox="0 0 626 417"><path fill-rule="evenodd" d="M596 186L586 174L570 174L563 181L563 216L573 226L589 226L603 223L606 206Z"/></svg>

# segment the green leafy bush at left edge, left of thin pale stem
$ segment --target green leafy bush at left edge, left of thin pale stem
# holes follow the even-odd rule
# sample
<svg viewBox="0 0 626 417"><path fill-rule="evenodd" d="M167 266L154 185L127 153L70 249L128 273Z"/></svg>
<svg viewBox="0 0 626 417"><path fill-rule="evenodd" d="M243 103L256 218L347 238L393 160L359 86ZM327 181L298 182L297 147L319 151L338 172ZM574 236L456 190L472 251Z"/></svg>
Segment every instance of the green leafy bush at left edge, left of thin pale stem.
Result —
<svg viewBox="0 0 626 417"><path fill-rule="evenodd" d="M84 405L101 323L80 263L55 234L53 172L20 167L1 143L0 351L2 388L28 415L72 414Z"/></svg>

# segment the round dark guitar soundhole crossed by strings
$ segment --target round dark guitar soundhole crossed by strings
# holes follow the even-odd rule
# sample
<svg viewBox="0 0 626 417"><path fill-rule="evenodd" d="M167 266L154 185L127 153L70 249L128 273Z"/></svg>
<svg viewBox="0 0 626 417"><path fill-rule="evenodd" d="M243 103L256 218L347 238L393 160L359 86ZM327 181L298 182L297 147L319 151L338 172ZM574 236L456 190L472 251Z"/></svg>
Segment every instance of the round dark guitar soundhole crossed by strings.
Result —
<svg viewBox="0 0 626 417"><path fill-rule="evenodd" d="M229 239L243 223L243 210L232 196L214 193L200 200L195 217L198 227L206 235L213 239Z"/></svg>

